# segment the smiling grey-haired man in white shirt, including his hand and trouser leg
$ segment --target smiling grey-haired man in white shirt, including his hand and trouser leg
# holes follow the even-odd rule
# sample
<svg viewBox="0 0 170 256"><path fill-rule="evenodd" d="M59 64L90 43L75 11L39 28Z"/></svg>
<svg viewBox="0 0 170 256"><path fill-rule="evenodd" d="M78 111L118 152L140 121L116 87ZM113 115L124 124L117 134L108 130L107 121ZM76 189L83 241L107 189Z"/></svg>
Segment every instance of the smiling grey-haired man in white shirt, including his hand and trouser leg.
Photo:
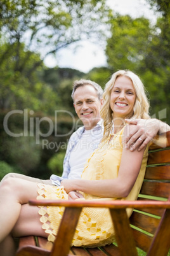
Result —
<svg viewBox="0 0 170 256"><path fill-rule="evenodd" d="M98 146L103 136L103 126L100 117L102 94L103 90L100 85L91 80L74 82L72 90L74 108L84 126L77 129L69 139L63 161L62 177L53 174L50 180L41 180L23 174L10 173L4 176L3 180L12 176L49 185L60 185L60 181L65 178L81 178L86 160ZM134 150L139 145L139 150L141 150L158 132L170 131L168 125L157 119L127 120L127 122L136 124L135 133L130 134L125 140L130 150Z"/></svg>

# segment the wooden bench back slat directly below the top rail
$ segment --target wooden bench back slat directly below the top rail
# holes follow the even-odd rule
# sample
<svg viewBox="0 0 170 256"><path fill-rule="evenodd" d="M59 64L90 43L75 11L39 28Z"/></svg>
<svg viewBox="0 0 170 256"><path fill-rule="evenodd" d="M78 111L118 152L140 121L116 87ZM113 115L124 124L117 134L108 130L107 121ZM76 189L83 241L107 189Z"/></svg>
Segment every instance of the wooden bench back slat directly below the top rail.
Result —
<svg viewBox="0 0 170 256"><path fill-rule="evenodd" d="M170 150L162 150L158 152L152 152L149 154L147 164L166 164L170 162L169 159Z"/></svg>

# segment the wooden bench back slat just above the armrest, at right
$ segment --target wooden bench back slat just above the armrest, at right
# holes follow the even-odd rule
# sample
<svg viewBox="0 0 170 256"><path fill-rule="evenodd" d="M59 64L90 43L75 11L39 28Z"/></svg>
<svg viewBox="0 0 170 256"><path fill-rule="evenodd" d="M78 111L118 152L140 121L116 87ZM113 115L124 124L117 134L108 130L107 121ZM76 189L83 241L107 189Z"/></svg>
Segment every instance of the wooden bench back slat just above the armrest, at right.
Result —
<svg viewBox="0 0 170 256"><path fill-rule="evenodd" d="M170 183L143 181L140 194L168 198L170 194Z"/></svg>

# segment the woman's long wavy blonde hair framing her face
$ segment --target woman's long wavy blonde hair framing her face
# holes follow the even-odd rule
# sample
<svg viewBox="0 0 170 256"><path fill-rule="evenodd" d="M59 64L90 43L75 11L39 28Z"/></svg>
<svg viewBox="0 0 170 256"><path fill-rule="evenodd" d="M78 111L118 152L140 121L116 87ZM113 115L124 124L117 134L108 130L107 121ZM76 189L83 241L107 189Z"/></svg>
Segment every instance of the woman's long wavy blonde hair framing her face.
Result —
<svg viewBox="0 0 170 256"><path fill-rule="evenodd" d="M101 108L101 118L103 118L104 125L103 139L108 137L110 132L112 132L114 113L110 108L110 94L112 88L114 87L115 80L119 76L126 76L129 79L131 79L131 81L133 82L134 90L136 92L136 100L133 107L133 115L129 118L150 118L150 116L148 115L149 102L147 99L147 93L139 76L135 75L133 72L129 70L119 70L112 75L111 79L105 85L105 89L103 92L103 107Z"/></svg>

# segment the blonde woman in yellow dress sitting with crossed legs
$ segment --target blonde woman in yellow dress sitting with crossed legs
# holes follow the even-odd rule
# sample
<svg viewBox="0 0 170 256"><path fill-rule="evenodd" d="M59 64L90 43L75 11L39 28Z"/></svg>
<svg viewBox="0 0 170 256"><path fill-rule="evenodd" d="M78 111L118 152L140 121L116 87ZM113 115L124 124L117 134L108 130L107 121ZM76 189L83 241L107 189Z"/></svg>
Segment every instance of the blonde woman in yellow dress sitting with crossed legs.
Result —
<svg viewBox="0 0 170 256"><path fill-rule="evenodd" d="M3 255L13 255L11 234L55 239L63 208L29 206L27 202L36 198L37 193L37 198L48 199L135 200L138 196L145 175L147 149L138 152L137 148L131 152L125 148L123 137L134 129L134 125L125 125L125 118L149 118L149 105L140 78L131 71L117 71L105 87L103 101L103 140L88 159L82 180L63 180L61 187L53 187L9 178L1 185L0 250ZM72 244L97 246L113 240L108 210L84 208ZM8 248L10 252L5 251Z"/></svg>

